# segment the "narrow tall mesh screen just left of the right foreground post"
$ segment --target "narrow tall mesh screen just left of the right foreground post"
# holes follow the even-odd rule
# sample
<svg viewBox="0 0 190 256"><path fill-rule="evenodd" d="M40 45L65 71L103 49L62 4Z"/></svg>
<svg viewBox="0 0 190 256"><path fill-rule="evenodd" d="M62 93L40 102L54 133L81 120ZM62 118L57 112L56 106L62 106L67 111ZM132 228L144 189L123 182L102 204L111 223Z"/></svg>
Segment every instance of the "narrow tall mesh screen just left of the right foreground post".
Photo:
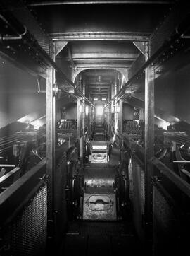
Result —
<svg viewBox="0 0 190 256"><path fill-rule="evenodd" d="M141 240L144 240L144 170L132 156L133 180L133 219L134 226Z"/></svg>

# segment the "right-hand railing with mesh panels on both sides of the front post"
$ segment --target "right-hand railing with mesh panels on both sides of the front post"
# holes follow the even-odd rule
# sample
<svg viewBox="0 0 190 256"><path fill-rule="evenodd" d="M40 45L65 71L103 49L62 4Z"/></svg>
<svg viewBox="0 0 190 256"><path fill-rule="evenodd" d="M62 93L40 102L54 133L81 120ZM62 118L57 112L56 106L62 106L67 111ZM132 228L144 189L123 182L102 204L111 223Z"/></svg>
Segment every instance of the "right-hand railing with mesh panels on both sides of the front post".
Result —
<svg viewBox="0 0 190 256"><path fill-rule="evenodd" d="M129 168L132 216L139 238L146 238L144 214L144 149L129 136L123 136L127 151L130 152L132 164ZM153 255L189 255L188 233L190 228L190 184L183 180L174 170L154 157L150 160L152 170L152 223L151 239Z"/></svg>

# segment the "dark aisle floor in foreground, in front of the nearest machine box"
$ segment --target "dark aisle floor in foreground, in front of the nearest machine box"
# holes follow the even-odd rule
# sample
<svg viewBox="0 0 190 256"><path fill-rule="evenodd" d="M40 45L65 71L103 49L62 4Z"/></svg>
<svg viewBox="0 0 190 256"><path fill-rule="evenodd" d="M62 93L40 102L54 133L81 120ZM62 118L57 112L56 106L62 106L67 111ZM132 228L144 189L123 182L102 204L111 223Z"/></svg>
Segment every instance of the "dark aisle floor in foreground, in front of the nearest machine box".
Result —
<svg viewBox="0 0 190 256"><path fill-rule="evenodd" d="M61 255L134 256L140 248L131 223L75 221L69 223Z"/></svg>

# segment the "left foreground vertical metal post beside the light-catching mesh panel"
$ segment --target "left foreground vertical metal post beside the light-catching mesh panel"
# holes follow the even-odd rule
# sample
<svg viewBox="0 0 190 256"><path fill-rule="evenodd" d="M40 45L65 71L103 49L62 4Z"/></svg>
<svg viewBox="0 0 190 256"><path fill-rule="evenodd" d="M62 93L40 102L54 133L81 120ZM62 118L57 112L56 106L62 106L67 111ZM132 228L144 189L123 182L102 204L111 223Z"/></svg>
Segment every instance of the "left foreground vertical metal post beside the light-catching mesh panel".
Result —
<svg viewBox="0 0 190 256"><path fill-rule="evenodd" d="M46 175L48 176L48 245L53 243L53 68L46 71Z"/></svg>

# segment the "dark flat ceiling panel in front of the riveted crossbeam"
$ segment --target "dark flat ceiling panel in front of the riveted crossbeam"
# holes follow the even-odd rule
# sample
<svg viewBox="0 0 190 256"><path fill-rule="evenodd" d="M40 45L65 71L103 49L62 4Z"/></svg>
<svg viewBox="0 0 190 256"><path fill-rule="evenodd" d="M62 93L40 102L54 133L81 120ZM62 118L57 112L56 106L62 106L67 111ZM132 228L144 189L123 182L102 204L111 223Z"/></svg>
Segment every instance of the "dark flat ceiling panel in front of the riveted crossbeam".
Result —
<svg viewBox="0 0 190 256"><path fill-rule="evenodd" d="M28 5L39 4L31 7L39 23L42 23L48 33L74 31L151 33L173 4L173 1L126 1L129 2L127 4L69 4L73 1L26 2ZM118 1L115 2L118 3ZM51 4L46 5L47 3Z"/></svg>

